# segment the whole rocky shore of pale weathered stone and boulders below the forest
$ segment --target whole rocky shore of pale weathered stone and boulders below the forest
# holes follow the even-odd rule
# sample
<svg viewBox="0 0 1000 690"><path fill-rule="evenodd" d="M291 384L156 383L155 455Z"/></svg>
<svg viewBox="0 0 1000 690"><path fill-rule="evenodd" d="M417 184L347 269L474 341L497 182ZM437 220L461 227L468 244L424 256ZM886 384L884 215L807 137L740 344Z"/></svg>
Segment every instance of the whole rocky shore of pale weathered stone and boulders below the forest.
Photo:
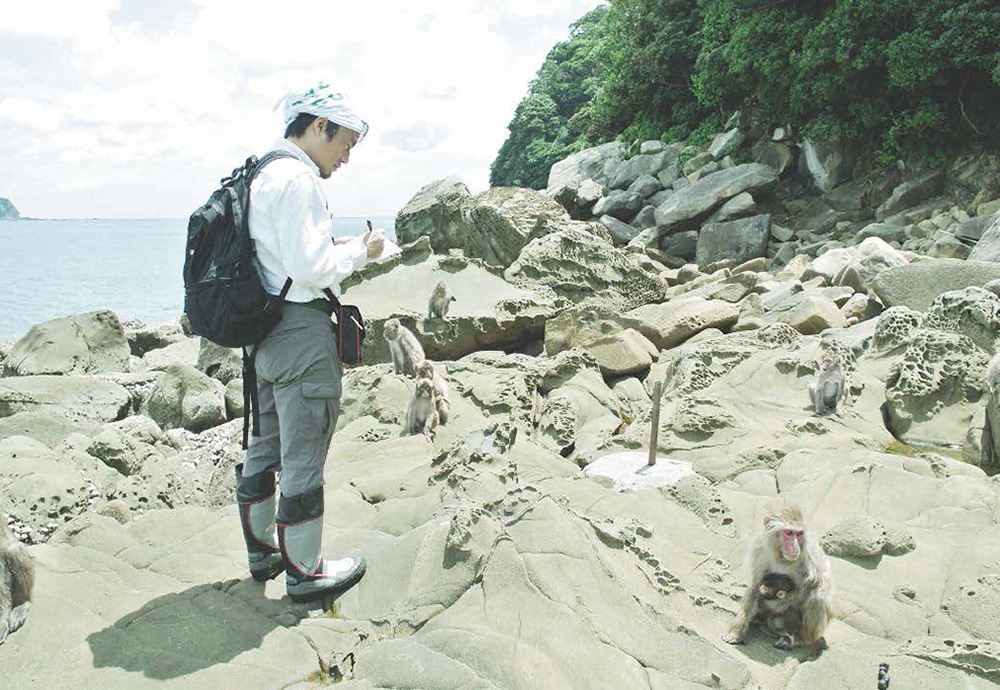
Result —
<svg viewBox="0 0 1000 690"><path fill-rule="evenodd" d="M0 502L38 560L15 685L862 688L1000 682L1000 202L986 159L865 176L738 122L707 147L608 144L549 189L431 183L403 252L345 284L372 334L326 471L333 615L247 578L237 353L93 312L0 344ZM752 162L740 162L752 158ZM978 166L978 168L976 167ZM426 319L444 280L447 319ZM452 391L433 441L381 326ZM824 357L840 412L807 393ZM617 490L645 452L693 470ZM989 437L987 436L987 440ZM720 639L762 516L802 506L833 563L821 652ZM7 669L10 669L7 671Z"/></svg>

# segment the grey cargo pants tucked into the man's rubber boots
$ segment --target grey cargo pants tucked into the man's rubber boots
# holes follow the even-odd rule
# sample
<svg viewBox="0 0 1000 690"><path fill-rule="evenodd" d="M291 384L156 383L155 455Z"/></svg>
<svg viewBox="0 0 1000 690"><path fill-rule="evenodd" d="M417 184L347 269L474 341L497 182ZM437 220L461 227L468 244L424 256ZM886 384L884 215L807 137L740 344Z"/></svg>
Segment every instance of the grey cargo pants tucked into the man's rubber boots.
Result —
<svg viewBox="0 0 1000 690"><path fill-rule="evenodd" d="M281 472L281 495L323 486L323 465L340 416L340 356L330 317L286 303L257 352L260 436L251 436L243 476Z"/></svg>

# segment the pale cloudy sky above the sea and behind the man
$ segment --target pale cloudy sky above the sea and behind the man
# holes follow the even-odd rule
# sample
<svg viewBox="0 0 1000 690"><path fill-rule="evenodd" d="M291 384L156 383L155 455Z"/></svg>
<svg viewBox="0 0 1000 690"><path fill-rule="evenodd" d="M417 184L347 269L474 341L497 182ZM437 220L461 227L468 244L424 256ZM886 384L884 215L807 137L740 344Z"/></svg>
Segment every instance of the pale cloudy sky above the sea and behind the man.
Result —
<svg viewBox="0 0 1000 690"><path fill-rule="evenodd" d="M431 180L489 186L514 108L600 0L0 0L0 197L39 218L183 218L325 80L368 137L324 183L395 215Z"/></svg>

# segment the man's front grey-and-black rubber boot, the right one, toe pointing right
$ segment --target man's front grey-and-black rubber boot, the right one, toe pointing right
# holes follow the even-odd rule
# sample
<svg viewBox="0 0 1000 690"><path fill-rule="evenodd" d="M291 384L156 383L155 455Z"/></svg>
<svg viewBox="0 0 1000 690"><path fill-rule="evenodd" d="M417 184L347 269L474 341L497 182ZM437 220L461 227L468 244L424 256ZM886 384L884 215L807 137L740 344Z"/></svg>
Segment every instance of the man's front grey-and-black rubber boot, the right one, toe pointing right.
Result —
<svg viewBox="0 0 1000 690"><path fill-rule="evenodd" d="M285 559L285 586L292 601L336 596L361 581L365 559L322 557L323 487L278 502L278 543Z"/></svg>

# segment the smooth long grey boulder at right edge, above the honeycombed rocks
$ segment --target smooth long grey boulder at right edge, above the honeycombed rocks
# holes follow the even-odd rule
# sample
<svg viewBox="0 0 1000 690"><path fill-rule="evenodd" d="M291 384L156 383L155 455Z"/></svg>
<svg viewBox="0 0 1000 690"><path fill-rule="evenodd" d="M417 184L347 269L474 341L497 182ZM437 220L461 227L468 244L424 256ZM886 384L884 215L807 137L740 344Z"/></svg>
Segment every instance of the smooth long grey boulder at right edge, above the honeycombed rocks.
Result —
<svg viewBox="0 0 1000 690"><path fill-rule="evenodd" d="M887 307L909 307L927 311L945 292L983 286L1000 279L1000 264L961 259L924 259L880 271L871 282L872 291Z"/></svg>

